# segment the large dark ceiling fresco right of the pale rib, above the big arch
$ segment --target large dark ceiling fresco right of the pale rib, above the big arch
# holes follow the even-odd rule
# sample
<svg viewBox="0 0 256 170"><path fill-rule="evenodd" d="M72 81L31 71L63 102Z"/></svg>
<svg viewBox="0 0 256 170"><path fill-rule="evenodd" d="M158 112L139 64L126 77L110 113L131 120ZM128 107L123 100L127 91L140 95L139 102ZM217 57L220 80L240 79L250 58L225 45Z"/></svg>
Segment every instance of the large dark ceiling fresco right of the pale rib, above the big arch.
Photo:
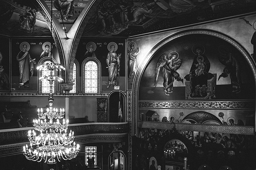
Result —
<svg viewBox="0 0 256 170"><path fill-rule="evenodd" d="M102 1L83 36L135 36L255 12L255 5L255 0Z"/></svg>

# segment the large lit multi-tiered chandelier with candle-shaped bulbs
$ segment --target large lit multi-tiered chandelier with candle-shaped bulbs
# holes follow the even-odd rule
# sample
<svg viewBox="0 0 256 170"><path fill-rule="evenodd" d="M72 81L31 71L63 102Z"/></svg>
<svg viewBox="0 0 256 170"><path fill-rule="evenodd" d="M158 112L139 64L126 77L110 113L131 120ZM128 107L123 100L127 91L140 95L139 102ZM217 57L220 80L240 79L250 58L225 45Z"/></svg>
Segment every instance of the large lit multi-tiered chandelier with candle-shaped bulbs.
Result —
<svg viewBox="0 0 256 170"><path fill-rule="evenodd" d="M53 108L53 82L55 80L63 81L61 77L53 75L54 71L65 70L60 64L53 64L52 62L45 62L43 65L38 66L38 70L42 68L49 70L49 75L40 77L39 80L46 79L50 84L49 93L49 109L43 112L43 109L38 109L38 119L34 119L34 129L28 131L28 139L30 146L23 146L24 155L28 160L43 161L48 164L55 164L56 160L61 161L75 158L79 152L79 144L75 146L74 132L70 130L67 134L68 119L60 123L59 119L64 117L64 109ZM49 121L46 121L46 117ZM56 119L56 121L53 121ZM43 121L44 120L44 121ZM63 132L63 133L62 133Z"/></svg>

